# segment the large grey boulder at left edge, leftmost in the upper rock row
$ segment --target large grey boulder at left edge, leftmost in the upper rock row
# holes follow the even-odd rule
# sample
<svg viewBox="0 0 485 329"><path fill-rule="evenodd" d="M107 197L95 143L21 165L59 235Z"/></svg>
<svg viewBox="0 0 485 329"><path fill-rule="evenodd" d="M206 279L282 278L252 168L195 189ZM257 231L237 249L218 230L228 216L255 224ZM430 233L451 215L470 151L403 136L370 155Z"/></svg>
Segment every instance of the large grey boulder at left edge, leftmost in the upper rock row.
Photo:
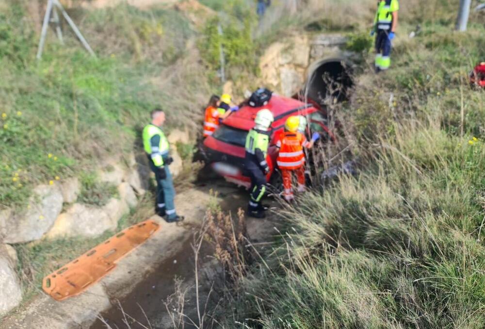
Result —
<svg viewBox="0 0 485 329"><path fill-rule="evenodd" d="M64 199L57 184L39 185L33 192L26 210L10 213L9 217L4 217L0 222L0 233L5 243L40 239L61 213Z"/></svg>

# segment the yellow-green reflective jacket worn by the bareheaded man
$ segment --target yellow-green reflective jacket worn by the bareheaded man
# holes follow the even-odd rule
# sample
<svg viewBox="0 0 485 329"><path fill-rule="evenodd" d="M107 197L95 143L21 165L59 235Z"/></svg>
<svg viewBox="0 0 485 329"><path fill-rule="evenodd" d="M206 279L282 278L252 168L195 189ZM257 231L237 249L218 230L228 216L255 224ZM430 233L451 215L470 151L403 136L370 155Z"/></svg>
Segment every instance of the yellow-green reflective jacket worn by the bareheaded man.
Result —
<svg viewBox="0 0 485 329"><path fill-rule="evenodd" d="M143 148L157 167L163 165L163 158L167 158L170 150L167 137L160 127L149 124L143 129Z"/></svg>

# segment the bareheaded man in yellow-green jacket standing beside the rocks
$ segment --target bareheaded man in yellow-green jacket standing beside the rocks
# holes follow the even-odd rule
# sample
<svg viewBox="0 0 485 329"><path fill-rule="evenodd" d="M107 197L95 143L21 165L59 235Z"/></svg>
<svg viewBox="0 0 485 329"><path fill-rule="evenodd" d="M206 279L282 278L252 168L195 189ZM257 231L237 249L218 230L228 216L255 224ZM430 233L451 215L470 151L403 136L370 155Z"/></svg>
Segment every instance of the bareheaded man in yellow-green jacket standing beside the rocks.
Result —
<svg viewBox="0 0 485 329"><path fill-rule="evenodd" d="M175 188L168 169L173 161L169 154L170 146L160 128L165 122L165 113L155 109L151 112L151 119L152 122L143 129L143 147L157 180L156 212L162 217L166 215L169 223L182 221L184 217L178 216L175 211Z"/></svg>

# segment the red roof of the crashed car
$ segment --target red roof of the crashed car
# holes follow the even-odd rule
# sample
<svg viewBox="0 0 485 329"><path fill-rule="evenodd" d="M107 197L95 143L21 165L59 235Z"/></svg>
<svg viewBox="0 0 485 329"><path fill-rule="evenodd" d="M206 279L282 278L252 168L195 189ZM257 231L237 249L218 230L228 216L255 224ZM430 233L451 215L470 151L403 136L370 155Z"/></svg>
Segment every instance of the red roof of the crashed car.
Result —
<svg viewBox="0 0 485 329"><path fill-rule="evenodd" d="M268 104L261 107L251 107L249 105L243 106L239 111L229 115L223 123L227 126L231 126L237 129L250 130L254 127L254 118L256 114L261 109L268 109L273 113L275 117L275 122L273 122L273 127L281 125L281 121L286 119L291 112L298 110L305 110L312 108L311 104L305 104L297 99L292 99L288 97L283 97L280 95L273 94Z"/></svg>

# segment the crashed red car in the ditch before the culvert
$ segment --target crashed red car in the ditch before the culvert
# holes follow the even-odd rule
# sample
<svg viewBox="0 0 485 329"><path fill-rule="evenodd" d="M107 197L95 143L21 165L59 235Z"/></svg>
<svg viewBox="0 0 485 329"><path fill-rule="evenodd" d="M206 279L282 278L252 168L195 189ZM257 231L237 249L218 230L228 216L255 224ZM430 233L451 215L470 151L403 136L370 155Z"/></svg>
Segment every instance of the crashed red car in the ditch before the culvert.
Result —
<svg viewBox="0 0 485 329"><path fill-rule="evenodd" d="M246 188L249 188L251 185L251 180L244 174L246 135L254 127L256 113L263 108L269 109L275 117L275 121L271 126L270 147L266 159L271 169L266 179L275 187L281 185L281 177L279 172L275 170L277 156L276 138L283 131L286 119L289 116L305 115L310 131L320 132L321 141L334 139L334 136L326 126L326 116L311 104L273 95L265 106L242 106L239 111L229 115L212 136L208 136L204 140L202 152L206 163L209 163L216 173L223 176L227 181Z"/></svg>

